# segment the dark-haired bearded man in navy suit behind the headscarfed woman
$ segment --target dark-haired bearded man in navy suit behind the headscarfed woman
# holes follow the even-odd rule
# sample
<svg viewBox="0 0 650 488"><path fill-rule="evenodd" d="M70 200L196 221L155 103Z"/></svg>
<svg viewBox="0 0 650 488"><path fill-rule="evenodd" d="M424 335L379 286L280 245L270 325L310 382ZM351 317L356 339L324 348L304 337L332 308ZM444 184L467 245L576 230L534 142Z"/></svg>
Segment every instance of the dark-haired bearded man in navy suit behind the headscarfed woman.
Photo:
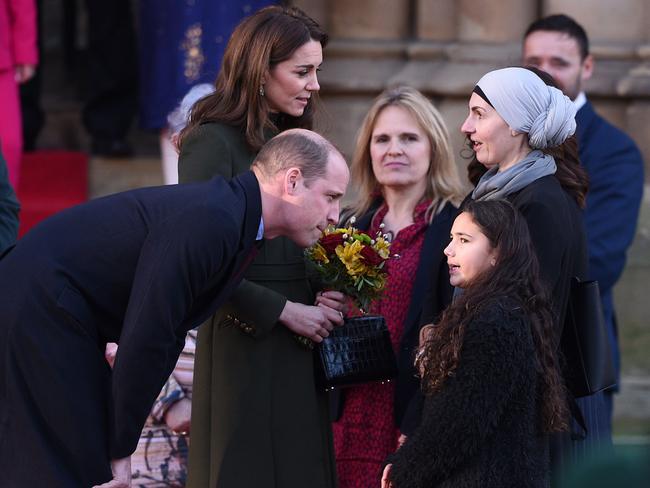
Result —
<svg viewBox="0 0 650 488"><path fill-rule="evenodd" d="M643 159L632 139L599 116L587 100L583 83L591 78L594 60L585 30L566 15L533 22L523 40L523 64L551 74L573 100L578 113L580 161L589 174L584 212L589 251L589 275L598 280L605 321L616 368L620 359L613 288L623 272L627 249L636 233L643 196ZM603 397L604 410L582 404L589 436L611 440L612 394Z"/></svg>

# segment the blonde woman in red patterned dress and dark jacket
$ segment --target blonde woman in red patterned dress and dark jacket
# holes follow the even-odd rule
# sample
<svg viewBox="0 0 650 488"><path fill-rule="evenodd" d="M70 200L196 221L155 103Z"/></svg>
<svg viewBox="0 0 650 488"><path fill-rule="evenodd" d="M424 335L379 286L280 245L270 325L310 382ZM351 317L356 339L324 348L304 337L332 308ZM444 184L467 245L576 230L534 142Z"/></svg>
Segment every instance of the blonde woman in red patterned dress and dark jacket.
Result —
<svg viewBox="0 0 650 488"><path fill-rule="evenodd" d="M443 249L463 197L440 113L406 86L384 91L373 103L359 131L351 172L359 193L348 215L370 233L382 228L399 255L388 263L384 297L371 306L386 318L399 376L389 384L337 394L334 445L341 488L376 485L384 459L417 417L407 414L418 390L413 351L421 325L451 299Z"/></svg>

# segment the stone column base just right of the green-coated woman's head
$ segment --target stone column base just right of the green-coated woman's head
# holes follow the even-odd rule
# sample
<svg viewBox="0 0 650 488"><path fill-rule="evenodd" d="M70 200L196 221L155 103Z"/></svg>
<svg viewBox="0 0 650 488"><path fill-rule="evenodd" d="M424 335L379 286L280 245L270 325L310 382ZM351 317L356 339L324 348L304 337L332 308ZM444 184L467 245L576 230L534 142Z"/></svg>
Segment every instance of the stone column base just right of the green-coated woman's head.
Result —
<svg viewBox="0 0 650 488"><path fill-rule="evenodd" d="M329 29L340 39L406 38L409 0L329 0Z"/></svg>

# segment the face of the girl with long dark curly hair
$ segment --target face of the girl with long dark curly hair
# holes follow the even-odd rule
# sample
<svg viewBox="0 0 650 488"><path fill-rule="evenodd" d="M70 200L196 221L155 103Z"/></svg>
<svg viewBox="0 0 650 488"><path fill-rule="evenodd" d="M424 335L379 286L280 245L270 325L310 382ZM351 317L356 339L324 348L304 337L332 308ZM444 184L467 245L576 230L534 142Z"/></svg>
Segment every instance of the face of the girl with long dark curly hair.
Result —
<svg viewBox="0 0 650 488"><path fill-rule="evenodd" d="M449 282L466 288L476 277L496 265L496 251L470 214L461 213L451 228L451 242L445 248Z"/></svg>

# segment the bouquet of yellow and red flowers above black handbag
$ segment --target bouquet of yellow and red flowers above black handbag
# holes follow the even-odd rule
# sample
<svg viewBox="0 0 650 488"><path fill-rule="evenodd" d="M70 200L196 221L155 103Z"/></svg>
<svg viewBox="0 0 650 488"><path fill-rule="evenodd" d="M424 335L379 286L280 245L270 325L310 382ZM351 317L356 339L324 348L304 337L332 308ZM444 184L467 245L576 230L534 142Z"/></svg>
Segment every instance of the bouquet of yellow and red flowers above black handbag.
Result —
<svg viewBox="0 0 650 488"><path fill-rule="evenodd" d="M363 312L379 298L386 285L390 243L380 231L374 238L359 232L354 217L348 227L328 227L305 256L325 286L352 297Z"/></svg>

